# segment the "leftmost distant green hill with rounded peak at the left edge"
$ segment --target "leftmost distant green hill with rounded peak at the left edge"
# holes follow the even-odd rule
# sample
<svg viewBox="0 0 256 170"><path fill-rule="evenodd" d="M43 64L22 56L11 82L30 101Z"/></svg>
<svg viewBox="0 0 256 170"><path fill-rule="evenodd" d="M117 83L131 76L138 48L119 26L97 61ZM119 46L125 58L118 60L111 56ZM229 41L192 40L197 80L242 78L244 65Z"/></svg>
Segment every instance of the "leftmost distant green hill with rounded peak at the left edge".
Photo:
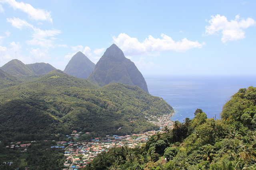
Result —
<svg viewBox="0 0 256 170"><path fill-rule="evenodd" d="M0 67L2 70L7 72L11 75L33 75L35 74L34 71L30 70L26 64L22 63L21 61L17 59L13 59L9 61L8 63L4 64L2 67Z"/></svg>

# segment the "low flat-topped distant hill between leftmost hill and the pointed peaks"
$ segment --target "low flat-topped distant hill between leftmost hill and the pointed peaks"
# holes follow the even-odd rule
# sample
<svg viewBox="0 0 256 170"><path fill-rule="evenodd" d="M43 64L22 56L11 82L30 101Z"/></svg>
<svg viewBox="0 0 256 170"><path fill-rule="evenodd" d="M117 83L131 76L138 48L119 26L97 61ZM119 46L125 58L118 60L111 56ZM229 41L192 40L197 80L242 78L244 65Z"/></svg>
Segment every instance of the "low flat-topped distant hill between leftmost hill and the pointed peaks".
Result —
<svg viewBox="0 0 256 170"><path fill-rule="evenodd" d="M34 63L26 64L30 70L34 71L36 74L46 74L52 70L56 70L51 64L48 63Z"/></svg>

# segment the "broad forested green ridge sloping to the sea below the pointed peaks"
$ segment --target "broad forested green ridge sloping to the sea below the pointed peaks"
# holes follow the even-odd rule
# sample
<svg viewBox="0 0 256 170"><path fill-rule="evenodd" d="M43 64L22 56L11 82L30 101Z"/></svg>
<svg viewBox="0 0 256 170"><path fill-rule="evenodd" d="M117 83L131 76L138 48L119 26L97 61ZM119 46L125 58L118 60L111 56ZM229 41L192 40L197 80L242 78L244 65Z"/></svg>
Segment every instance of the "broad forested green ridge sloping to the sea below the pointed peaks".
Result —
<svg viewBox="0 0 256 170"><path fill-rule="evenodd" d="M164 100L136 86L99 87L54 70L38 80L0 89L0 141L21 136L38 140L49 131L84 131L94 137L139 133L158 129L145 116L172 112ZM34 122L34 128L28 122Z"/></svg>

